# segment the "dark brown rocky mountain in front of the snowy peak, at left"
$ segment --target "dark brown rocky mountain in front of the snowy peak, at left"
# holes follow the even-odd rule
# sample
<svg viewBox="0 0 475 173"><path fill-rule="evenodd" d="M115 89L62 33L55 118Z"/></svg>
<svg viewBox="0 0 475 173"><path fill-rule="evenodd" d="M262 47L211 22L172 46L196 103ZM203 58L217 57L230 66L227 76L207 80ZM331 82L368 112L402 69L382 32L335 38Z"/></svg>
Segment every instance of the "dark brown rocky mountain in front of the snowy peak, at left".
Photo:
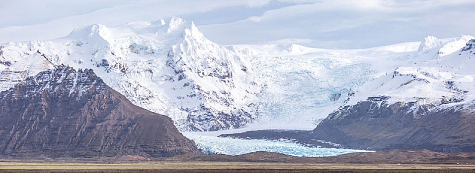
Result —
<svg viewBox="0 0 475 173"><path fill-rule="evenodd" d="M92 70L60 66L0 93L0 155L169 157L199 153L170 118L133 105Z"/></svg>

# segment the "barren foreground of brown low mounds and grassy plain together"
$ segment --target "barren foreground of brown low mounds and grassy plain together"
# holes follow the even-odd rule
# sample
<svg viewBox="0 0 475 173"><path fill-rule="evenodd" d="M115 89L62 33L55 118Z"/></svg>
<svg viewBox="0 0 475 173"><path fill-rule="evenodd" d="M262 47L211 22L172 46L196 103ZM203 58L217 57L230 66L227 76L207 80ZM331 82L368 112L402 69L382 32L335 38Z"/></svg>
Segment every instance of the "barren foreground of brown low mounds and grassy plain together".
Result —
<svg viewBox="0 0 475 173"><path fill-rule="evenodd" d="M306 158L271 152L238 156L183 155L161 160L139 156L92 159L0 160L0 172L96 173L475 173L474 153L378 151Z"/></svg>

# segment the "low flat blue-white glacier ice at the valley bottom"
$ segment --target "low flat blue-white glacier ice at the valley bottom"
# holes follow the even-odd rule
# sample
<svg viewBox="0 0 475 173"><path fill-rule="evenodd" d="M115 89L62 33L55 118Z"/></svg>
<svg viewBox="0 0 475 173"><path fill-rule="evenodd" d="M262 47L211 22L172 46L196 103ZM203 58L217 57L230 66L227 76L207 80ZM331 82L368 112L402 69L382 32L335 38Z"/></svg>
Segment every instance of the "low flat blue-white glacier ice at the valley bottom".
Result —
<svg viewBox="0 0 475 173"><path fill-rule="evenodd" d="M196 143L205 154L241 155L254 151L277 152L299 157L326 157L354 152L373 152L344 148L316 148L302 146L291 141L270 141L260 139L222 138L184 132L183 135Z"/></svg>

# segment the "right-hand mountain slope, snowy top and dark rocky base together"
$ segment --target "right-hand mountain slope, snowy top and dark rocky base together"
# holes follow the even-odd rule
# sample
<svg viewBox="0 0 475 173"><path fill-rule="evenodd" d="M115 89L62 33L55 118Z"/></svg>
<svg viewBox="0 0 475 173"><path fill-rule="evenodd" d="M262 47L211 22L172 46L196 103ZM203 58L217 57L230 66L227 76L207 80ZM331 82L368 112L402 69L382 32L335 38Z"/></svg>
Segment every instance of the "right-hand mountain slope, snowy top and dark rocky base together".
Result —
<svg viewBox="0 0 475 173"><path fill-rule="evenodd" d="M363 85L312 137L350 148L474 152L475 40L431 40L438 44L425 51L438 58L426 62L428 67L398 68ZM442 51L455 45L459 50L451 54Z"/></svg>

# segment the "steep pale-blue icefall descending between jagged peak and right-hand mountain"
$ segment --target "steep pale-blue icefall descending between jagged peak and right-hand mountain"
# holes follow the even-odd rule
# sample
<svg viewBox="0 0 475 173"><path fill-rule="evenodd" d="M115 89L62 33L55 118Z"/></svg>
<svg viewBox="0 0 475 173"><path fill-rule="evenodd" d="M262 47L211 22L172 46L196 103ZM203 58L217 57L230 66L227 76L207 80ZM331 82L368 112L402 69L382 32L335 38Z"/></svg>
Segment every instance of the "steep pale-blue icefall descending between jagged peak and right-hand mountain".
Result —
<svg viewBox="0 0 475 173"><path fill-rule="evenodd" d="M337 56L345 56L338 54ZM314 56L259 56L250 79L263 86L257 94L260 118L250 127L310 130L341 106L350 88L377 75L368 61Z"/></svg>

